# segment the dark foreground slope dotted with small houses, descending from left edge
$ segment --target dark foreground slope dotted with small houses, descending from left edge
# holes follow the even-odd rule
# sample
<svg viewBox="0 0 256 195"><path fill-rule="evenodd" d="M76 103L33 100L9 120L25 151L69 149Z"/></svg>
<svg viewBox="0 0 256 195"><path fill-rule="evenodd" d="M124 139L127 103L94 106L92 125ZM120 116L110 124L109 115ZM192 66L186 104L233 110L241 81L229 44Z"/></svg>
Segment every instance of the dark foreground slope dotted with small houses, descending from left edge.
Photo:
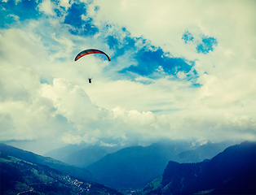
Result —
<svg viewBox="0 0 256 195"><path fill-rule="evenodd" d="M0 194L121 194L51 167L0 153Z"/></svg>

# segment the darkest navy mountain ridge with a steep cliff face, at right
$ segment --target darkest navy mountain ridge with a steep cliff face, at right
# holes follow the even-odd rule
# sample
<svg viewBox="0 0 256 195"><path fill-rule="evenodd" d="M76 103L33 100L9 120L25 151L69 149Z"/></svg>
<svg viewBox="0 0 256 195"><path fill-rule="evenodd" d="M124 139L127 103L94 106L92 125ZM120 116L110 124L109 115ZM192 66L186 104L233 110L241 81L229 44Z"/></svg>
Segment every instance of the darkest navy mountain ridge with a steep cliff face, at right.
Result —
<svg viewBox="0 0 256 195"><path fill-rule="evenodd" d="M255 153L256 142L245 141L207 162L170 161L161 178L147 184L143 194L255 194Z"/></svg>

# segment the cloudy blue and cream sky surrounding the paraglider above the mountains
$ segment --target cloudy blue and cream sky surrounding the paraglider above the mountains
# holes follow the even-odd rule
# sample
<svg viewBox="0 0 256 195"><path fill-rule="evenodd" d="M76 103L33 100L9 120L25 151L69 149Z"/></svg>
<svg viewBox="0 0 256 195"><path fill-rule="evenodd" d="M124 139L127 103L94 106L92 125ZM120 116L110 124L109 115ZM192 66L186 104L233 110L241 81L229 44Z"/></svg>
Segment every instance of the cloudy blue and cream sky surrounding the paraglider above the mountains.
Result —
<svg viewBox="0 0 256 195"><path fill-rule="evenodd" d="M0 0L0 10L0 141L37 154L256 141L254 0ZM112 60L74 61L91 48Z"/></svg>

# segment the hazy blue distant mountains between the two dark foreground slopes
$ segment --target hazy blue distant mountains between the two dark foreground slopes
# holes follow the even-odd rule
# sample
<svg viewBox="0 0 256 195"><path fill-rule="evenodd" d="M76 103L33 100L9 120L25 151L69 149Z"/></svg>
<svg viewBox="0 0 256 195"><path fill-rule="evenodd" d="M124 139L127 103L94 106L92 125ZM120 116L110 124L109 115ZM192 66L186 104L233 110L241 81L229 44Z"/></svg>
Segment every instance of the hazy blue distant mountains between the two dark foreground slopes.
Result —
<svg viewBox="0 0 256 195"><path fill-rule="evenodd" d="M67 145L44 155L64 163L88 169L100 184L115 189L142 189L145 184L161 176L170 160L196 163L213 158L230 142L203 145L191 141L163 139L152 145L106 147L102 145ZM154 167L154 169L152 169Z"/></svg>

